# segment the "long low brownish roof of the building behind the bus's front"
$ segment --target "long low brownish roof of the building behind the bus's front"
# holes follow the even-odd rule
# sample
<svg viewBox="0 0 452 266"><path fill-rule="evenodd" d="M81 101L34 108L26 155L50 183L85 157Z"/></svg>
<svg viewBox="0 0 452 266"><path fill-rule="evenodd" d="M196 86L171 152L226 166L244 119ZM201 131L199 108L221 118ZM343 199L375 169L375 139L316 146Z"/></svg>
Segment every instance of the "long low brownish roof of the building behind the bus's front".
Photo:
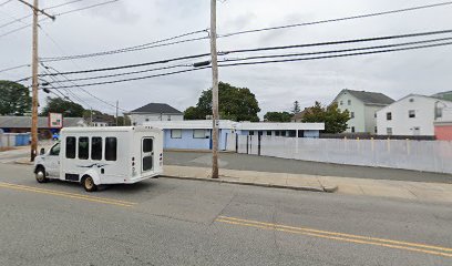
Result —
<svg viewBox="0 0 452 266"><path fill-rule="evenodd" d="M64 117L63 127L83 126L85 121L82 117ZM0 127L3 129L30 129L31 116L0 116ZM44 116L38 117L39 129L49 129L49 120Z"/></svg>

